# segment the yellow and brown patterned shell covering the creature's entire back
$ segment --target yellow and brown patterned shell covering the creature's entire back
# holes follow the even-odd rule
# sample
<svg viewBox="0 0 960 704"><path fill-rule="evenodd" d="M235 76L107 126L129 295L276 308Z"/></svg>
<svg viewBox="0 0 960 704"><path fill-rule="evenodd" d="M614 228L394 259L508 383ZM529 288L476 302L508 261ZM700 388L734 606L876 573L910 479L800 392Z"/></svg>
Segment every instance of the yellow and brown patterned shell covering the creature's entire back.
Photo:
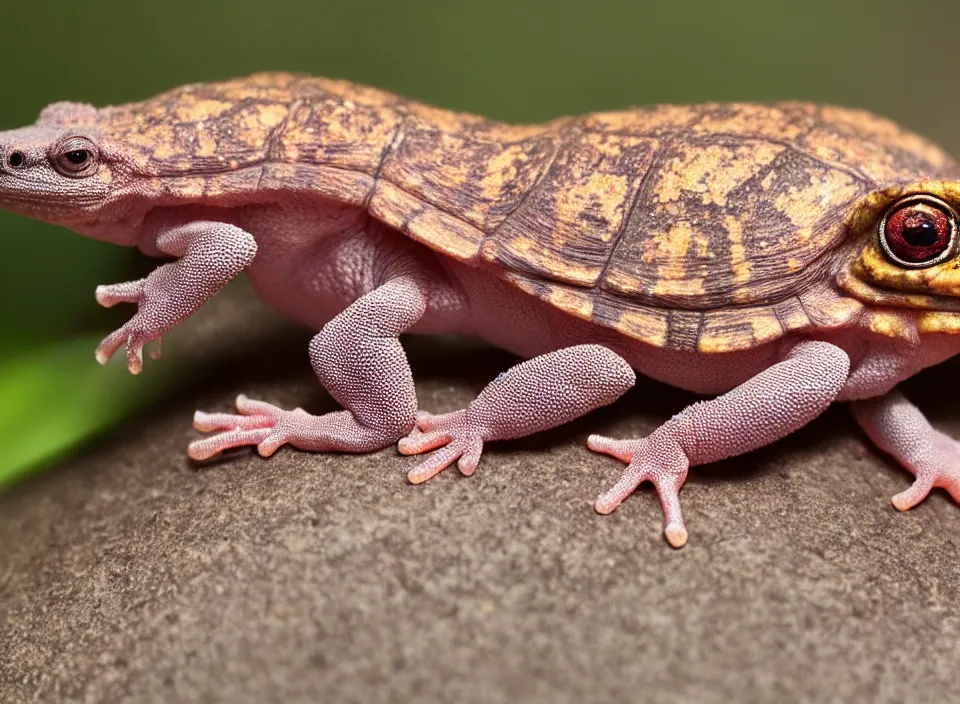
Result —
<svg viewBox="0 0 960 704"><path fill-rule="evenodd" d="M648 344L718 352L842 324L828 253L854 203L957 176L870 114L660 106L513 126L341 81L260 74L101 113L172 195L311 190Z"/></svg>

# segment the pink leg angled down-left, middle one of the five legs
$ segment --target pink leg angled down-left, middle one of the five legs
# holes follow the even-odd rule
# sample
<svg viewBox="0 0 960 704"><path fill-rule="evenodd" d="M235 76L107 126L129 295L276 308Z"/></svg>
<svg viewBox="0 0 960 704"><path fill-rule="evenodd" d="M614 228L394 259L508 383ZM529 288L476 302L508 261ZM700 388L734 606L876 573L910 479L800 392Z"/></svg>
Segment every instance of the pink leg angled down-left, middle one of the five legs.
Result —
<svg viewBox="0 0 960 704"><path fill-rule="evenodd" d="M613 403L636 382L630 365L600 345L578 345L529 359L507 370L465 409L420 413L417 427L400 441L405 455L437 448L407 475L414 484L454 462L472 475L483 444L555 428Z"/></svg>

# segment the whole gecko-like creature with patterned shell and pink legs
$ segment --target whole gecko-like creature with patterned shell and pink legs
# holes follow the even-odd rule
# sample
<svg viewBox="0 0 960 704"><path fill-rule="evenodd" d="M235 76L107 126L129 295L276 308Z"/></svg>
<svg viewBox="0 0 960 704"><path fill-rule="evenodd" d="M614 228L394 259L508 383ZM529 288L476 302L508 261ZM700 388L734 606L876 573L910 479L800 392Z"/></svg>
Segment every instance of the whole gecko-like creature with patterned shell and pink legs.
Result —
<svg viewBox="0 0 960 704"><path fill-rule="evenodd" d="M837 401L851 402L866 434L915 475L913 486L894 497L896 508L916 505L934 487L945 488L960 502L960 444L932 428L896 389L902 380L960 351L960 274L952 219L960 204L960 169L934 147L904 137L907 146L901 151L909 147L915 153L904 151L897 157L902 163L881 158L899 153L900 147L886 143L886 152L871 154L866 146L851 151L858 158L862 152L862 165L810 156L804 135L819 134L821 122L840 134L846 113L828 119L822 110L798 104L776 110L807 120L805 132L776 123L792 136L760 134L737 142L734 149L728 141L740 136L731 136L730 127L717 128L713 142L676 152L680 166L670 166L674 152L663 146L664 140L649 136L659 135L655 126L664 119L656 112L587 116L573 128L562 121L512 128L363 92L372 89L309 80L274 76L225 84L211 89L219 102L197 102L191 91L202 89L187 87L156 104L102 111L58 104L45 110L36 125L0 132L0 205L169 260L142 280L97 289L101 305L137 306L129 322L97 348L101 363L122 349L130 371L138 373L148 343L159 342L241 273L270 305L318 331L309 360L342 410L314 416L240 395L235 413L196 413L194 425L207 435L190 444L193 459L241 446L255 447L266 457L284 445L310 452L371 452L396 443L405 455L426 454L408 474L413 483L454 463L470 476L485 443L525 437L611 404L639 373L711 398L644 438L590 436L589 449L626 464L619 481L600 494L596 510L610 513L638 485L651 482L663 507L665 536L674 547L688 539L679 492L690 467L775 442ZM244 98L249 105L238 97L247 95L244 90L253 91L252 98ZM340 112L317 117L328 103L336 103ZM241 107L230 112L231 105ZM311 111L305 112L305 105L312 105ZM364 106L369 113L361 114ZM685 112L671 119L691 130L684 134L694 144L701 139L696 130L706 129L696 125L717 119L710 110L714 108L689 113L699 122L690 122ZM751 112L752 106L730 110L754 115L760 129L764 120L773 124L780 119L780 113ZM210 111L219 112L209 120L226 115L227 127L205 132ZM364 122L364 115L380 122ZM641 118L646 131L623 137L631 120ZM429 130L410 137L410 125L420 122L429 123ZM746 130L748 122L738 129ZM754 129L754 123L747 126ZM869 133L872 123L854 123ZM382 125L386 127L380 129ZM585 151L571 152L569 158L557 155L588 128L599 130L602 138L588 140ZM351 129L349 143L334 149L331 144ZM477 130L486 130L476 142L480 146L461 139ZM863 144L892 139L888 132L869 133ZM215 143L205 141L214 138ZM477 165L473 176L465 167L429 181L424 174L449 166L444 159L453 157L421 160L421 153L403 151L405 144L420 148L429 142L430 149L440 149L457 139L462 143L451 153L459 150L470 157L464 163ZM783 147L787 139L799 145L792 152ZM661 151L652 157L643 152L644 140ZM548 142L556 150L552 156L544 146ZM481 153L497 144L507 145L499 157ZM515 155L510 150L516 144L522 148L516 147ZM843 156L843 143L831 144ZM170 145L182 149L165 148ZM489 174L484 180L480 167L507 160L504 154L514 161L503 173L517 179L528 162L539 159L537 179L514 190L512 181ZM592 159L589 168L583 167L584 154ZM321 158L326 161L319 165L309 161ZM694 163L696 159L700 161ZM603 171L614 166L629 178L618 181ZM756 174L753 181L744 176L750 169ZM791 169L800 175L791 175ZM646 180L640 178L643 173ZM657 181L661 174L666 176ZM690 174L701 174L700 180ZM793 180L782 186L777 181L781 176ZM556 184L563 178L589 187L560 188ZM818 191L810 185L817 179ZM455 181L460 200L454 205L459 203L465 214L443 220L449 207L434 212L423 203L439 200L441 187ZM637 240L645 231L631 230L633 223L654 228L661 220L652 215L637 220L648 213L640 213L639 206L614 208L613 201L602 209L598 194L617 187L633 189L634 205L646 202L645 188L660 188L651 196L650 213L667 218L669 229L658 238ZM405 198L413 198L411 193L419 195L401 207ZM922 261L898 263L881 247L888 237L887 230L881 233L881 217L906 207L898 205L904 198L917 197L919 206L908 205L919 207L920 215L894 218L891 227L902 222L914 227L924 213L944 218L947 224L937 231L944 254L926 267ZM515 202L503 209L505 215L490 210L501 218L499 224L471 241L473 225L466 223L479 222L483 208L495 209L510 198ZM751 210L736 210L736 198ZM835 202L823 210L830 199ZM561 217L563 208L574 206L580 210ZM535 214L549 215L552 225L525 208L540 208ZM684 215L684 208L703 210ZM588 211L592 219L580 217ZM527 234L510 234L508 225L519 227L511 225L517 213L516 222ZM751 218L761 216L768 218L769 227L793 229L757 240L760 254L750 261L748 245L754 245L744 233ZM617 237L587 239L593 232L589 228L602 229L602 223L617 218ZM432 224L418 225L424 222ZM592 224L578 224L582 222ZM722 236L711 239L691 230L691 222L722 227L717 230ZM806 224L798 227L798 222ZM930 227L920 234L933 232ZM544 242L553 247L556 240L535 239L551 232L559 237L561 231L580 237L576 247L567 243L567 249L543 249ZM503 233L502 238L490 232ZM890 238L897 234L890 233ZM765 236L760 228L756 237ZM784 245L784 239L794 246ZM787 249L781 252L781 246ZM567 270L564 262L555 261L561 255L573 257L570 252L597 257L603 253L597 247L616 248L627 258L618 260L610 249L604 255L609 261L597 259L593 268L576 269L566 262ZM631 247L639 254L630 254ZM729 257L732 268L688 280L700 266L692 257L711 254L712 247ZM916 251L922 257L922 248ZM764 267L771 261L779 262L782 274L767 272ZM544 262L553 262L560 273L554 278L535 275ZM627 276L631 271L635 277ZM596 283L608 275L609 286ZM594 277L593 284L577 283L588 276ZM647 288L640 285L644 281L649 281ZM632 298L620 290L634 284ZM611 293L615 289L619 293ZM691 296L690 291L698 293ZM685 322L689 320L695 322ZM491 381L466 408L433 415L417 400L399 339L407 333L475 336L524 361Z"/></svg>

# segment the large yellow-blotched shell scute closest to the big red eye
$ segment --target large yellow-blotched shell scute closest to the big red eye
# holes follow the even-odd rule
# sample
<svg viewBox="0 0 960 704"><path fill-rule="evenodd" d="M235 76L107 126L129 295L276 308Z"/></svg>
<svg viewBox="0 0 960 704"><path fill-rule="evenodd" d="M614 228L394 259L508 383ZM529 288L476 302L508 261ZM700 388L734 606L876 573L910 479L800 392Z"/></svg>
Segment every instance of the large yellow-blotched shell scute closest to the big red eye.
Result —
<svg viewBox="0 0 960 704"><path fill-rule="evenodd" d="M753 140L690 141L652 177L603 289L651 305L706 309L795 293L866 191L801 152Z"/></svg>

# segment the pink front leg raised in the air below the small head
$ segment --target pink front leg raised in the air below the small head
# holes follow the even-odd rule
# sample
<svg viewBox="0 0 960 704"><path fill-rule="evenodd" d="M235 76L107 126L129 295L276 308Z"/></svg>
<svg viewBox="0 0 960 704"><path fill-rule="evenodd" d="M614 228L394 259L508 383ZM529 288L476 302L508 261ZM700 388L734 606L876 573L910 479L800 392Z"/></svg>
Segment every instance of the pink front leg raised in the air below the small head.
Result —
<svg viewBox="0 0 960 704"><path fill-rule="evenodd" d="M243 271L257 253L253 236L222 222L191 222L160 233L156 248L178 257L145 279L97 287L97 301L110 307L136 303L137 313L97 347L97 361L106 364L126 347L127 367L143 368L143 346L193 315ZM159 355L158 355L159 356Z"/></svg>

